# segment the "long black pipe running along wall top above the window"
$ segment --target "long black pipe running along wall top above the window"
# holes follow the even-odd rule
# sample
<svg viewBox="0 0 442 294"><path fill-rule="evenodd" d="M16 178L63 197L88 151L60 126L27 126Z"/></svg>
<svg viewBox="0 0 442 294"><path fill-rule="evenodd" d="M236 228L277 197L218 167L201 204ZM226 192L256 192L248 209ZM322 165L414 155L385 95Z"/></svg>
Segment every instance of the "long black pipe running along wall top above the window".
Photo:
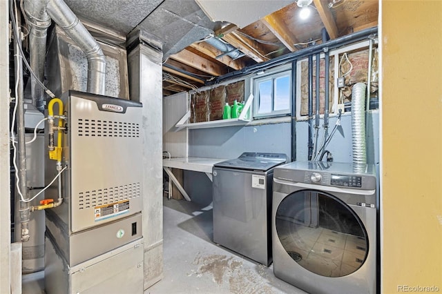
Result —
<svg viewBox="0 0 442 294"><path fill-rule="evenodd" d="M367 39L369 37L369 35L377 34L377 32L378 32L377 26L375 26L373 28L367 28L365 30L360 30L358 32L354 32L351 35L343 36L343 37L340 37L337 39L327 41L325 43L310 46L310 47L307 47L307 48L304 48L302 50L298 50L295 52L291 52L287 55L282 55L280 57L276 57L276 58L273 58L269 61L258 63L253 66L247 66L245 68L242 68L240 70L236 70L234 72L229 72L226 75L222 75L222 76L217 77L217 78L213 79L212 81L206 83L206 86L209 86L212 84L217 84L220 81L223 81L225 79L233 79L234 77L238 77L240 75L245 75L245 74L255 72L258 70L270 68L271 66L278 66L280 64L291 62L296 59L302 59L302 58L307 57L309 55L316 54L318 52L322 52L325 47L328 47L329 50L332 50L334 48L345 46L349 43L356 43L357 41L362 41L364 39ZM165 64L166 63L164 63L164 65Z"/></svg>

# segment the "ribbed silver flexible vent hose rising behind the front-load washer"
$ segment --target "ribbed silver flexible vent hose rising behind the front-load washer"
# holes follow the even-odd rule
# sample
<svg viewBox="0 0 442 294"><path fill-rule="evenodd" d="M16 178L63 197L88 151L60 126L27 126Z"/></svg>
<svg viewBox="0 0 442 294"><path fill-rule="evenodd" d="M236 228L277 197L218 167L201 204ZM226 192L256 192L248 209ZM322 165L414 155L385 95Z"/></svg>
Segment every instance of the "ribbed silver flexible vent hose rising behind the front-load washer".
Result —
<svg viewBox="0 0 442 294"><path fill-rule="evenodd" d="M352 146L353 164L367 164L365 149L365 84L352 88Z"/></svg>

